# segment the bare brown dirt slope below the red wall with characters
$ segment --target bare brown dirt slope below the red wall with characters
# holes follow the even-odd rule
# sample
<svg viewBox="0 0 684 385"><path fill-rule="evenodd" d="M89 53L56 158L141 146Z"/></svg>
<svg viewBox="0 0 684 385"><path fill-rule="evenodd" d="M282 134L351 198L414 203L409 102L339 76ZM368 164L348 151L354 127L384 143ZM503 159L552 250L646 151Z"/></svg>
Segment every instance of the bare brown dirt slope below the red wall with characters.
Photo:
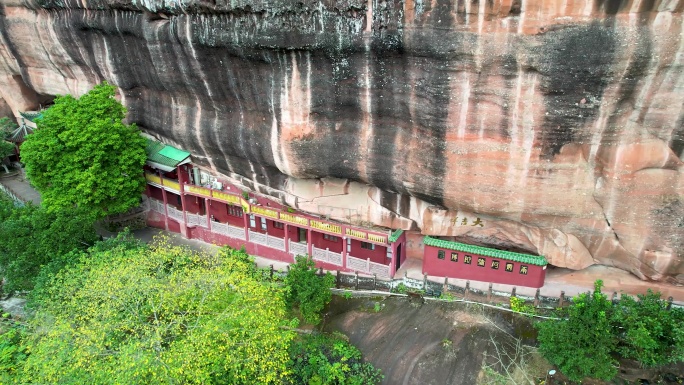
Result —
<svg viewBox="0 0 684 385"><path fill-rule="evenodd" d="M496 374L502 364L508 366L511 381L527 375L528 381L519 383L536 382L533 374L520 373L516 365L510 365L510 358L516 356L510 334L520 325L477 305L336 296L329 309L324 330L347 335L366 360L383 371L383 384L507 383L501 381L508 375ZM522 356L527 350L520 348ZM546 373L545 364L540 366L527 357L530 369Z"/></svg>

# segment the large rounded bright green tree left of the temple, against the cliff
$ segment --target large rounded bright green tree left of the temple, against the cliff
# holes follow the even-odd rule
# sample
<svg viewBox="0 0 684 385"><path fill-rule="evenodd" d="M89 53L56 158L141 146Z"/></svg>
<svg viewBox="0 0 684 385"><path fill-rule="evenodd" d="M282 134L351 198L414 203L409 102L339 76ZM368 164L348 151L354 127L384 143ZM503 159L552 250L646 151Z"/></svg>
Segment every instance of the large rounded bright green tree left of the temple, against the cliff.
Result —
<svg viewBox="0 0 684 385"><path fill-rule="evenodd" d="M81 206L104 217L139 204L146 143L122 122L126 109L114 95L105 82L78 99L57 97L22 144L26 174L48 210Z"/></svg>

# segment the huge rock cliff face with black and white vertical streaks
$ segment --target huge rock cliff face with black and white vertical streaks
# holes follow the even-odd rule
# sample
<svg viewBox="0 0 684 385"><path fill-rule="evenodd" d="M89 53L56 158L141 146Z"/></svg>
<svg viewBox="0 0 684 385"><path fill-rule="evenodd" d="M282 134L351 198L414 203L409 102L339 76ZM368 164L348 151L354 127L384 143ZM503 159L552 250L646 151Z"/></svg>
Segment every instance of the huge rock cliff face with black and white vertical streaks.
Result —
<svg viewBox="0 0 684 385"><path fill-rule="evenodd" d="M684 0L0 0L13 111L107 80L343 221L684 275Z"/></svg>

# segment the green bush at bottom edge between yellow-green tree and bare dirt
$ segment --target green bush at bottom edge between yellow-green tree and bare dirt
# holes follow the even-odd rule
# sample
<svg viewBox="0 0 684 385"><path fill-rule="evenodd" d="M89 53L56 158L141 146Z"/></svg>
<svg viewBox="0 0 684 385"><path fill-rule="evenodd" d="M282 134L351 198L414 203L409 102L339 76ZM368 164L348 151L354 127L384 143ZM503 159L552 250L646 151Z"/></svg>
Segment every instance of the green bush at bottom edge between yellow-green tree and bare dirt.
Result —
<svg viewBox="0 0 684 385"><path fill-rule="evenodd" d="M373 385L382 374L363 362L361 352L335 335L306 335L290 347L292 376L287 384Z"/></svg>

